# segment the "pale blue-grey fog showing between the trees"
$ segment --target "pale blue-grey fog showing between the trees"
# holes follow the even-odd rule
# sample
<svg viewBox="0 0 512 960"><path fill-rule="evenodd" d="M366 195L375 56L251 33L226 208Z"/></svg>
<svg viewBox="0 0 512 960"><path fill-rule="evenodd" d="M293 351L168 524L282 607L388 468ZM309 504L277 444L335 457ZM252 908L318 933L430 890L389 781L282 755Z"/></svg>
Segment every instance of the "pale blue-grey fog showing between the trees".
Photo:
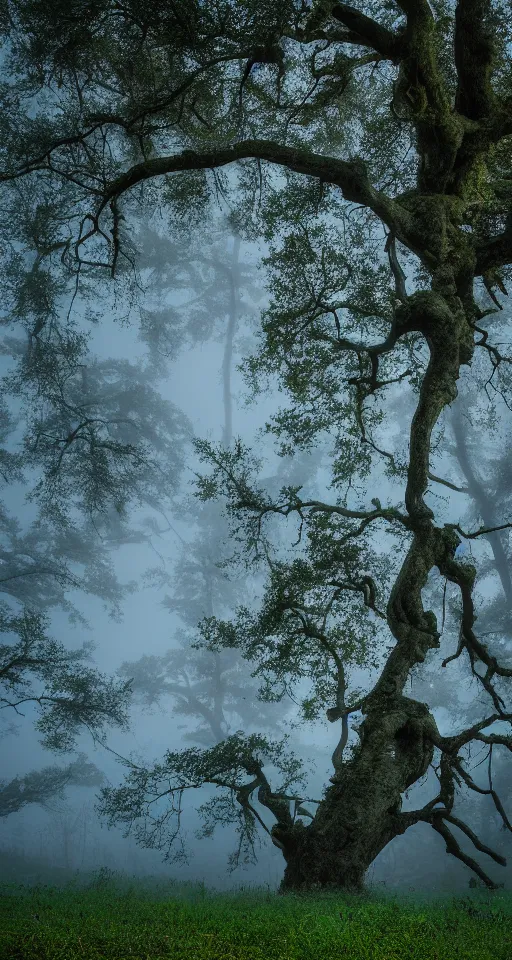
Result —
<svg viewBox="0 0 512 960"><path fill-rule="evenodd" d="M165 244L169 242L165 223L160 223L157 216L151 222L141 220L134 245L138 248L136 263L144 288L142 307L139 303L139 307L132 310L130 323L126 323L126 304L122 295L118 293L115 296L115 284L112 282L105 284L102 299L95 304L95 309L101 314L99 324L91 324L85 308L78 304L75 306L75 316L79 316L80 327L92 333L89 342L91 358L100 361L127 360L134 365L132 373L125 367L124 372L119 374L119 380L115 381L114 378L112 382L119 384L123 377L129 381L130 377L135 378L136 370L144 372L147 381L157 389L162 399L185 415L187 420L184 429L185 433L189 432L189 439L193 434L229 446L235 438L241 437L245 444L254 446L258 455L265 458L261 475L268 479L269 490L277 492L285 482L303 483L303 492L307 492L308 496L328 501L333 497L333 491L329 489L328 433L325 442L311 451L297 451L295 458L280 458L272 436L258 431L273 413L286 405L286 397L278 391L276 384L272 386L271 383L268 391L257 400L248 404L245 402L247 386L237 364L242 357L257 350L260 315L268 303L266 273L262 264L266 246L263 241L239 241L230 228L228 213L229 210L222 203L217 203L212 206L212 222L205 225L204 234L201 235L199 230L192 231L188 244L183 247L183 256L189 263L196 258L196 278L194 282L193 271L186 275L182 273L179 284L171 272L166 277L165 271L159 266L159 256L165 255ZM217 217L216 221L213 220L214 216ZM160 238L162 243L161 254L158 253L155 237ZM173 257L179 259L179 245L173 246ZM249 271L249 267L253 269ZM408 283L412 283L410 275ZM179 286L181 288L177 289ZM190 306L192 302L193 307ZM63 303L62 309L66 310L68 306ZM509 318L508 309L505 301L502 316L506 319ZM167 356L165 338L161 336L158 340L154 333L155 326L152 323L156 323L155 317L159 318L162 329L168 331ZM173 341L173 330L178 329L184 332L181 336L176 335ZM480 358L475 360L475 367L478 362ZM9 361L4 361L4 373L8 373L9 369ZM496 488L494 461L503 453L506 438L510 436L510 412L500 397L495 398L501 423L496 435L492 435L486 429L485 411L482 413L483 404L480 400L481 422L479 426L472 426L467 415L475 396L471 381L473 370L467 367L463 370L459 381L459 397L442 419L441 428L436 431L431 470L455 485L469 485L470 477L464 473L466 461L461 453L462 448L460 444L457 447L457 429L460 436L462 428L467 443L467 462L480 479L484 492L490 494ZM386 407L390 419L374 431L375 442L386 450L406 454L415 396L406 384L393 388L388 396L390 402ZM142 409L142 423L144 416ZM7 448L13 452L22 428L20 424L19 430L9 438ZM101 534L119 582L134 581L133 592L125 594L120 602L121 616L117 620L112 619L100 597L80 589L66 590L66 597L87 618L89 629L83 624L70 622L69 611L58 606L48 611L49 634L69 649L78 648L84 640L93 640L94 664L106 674L114 675L123 663L133 664L143 656L163 657L169 650L178 650L179 638L183 637L184 631L189 639L194 639L194 619L197 621L202 616L211 615L229 619L234 615L237 603L249 603L256 609L261 597L264 582L261 570L259 573L246 573L240 567L228 567L227 571L219 571L214 566L217 558L229 555L230 544L229 540L226 541L228 528L220 503L210 502L201 506L193 496L194 471L200 472L201 467L189 439L186 440L185 468L179 483L175 484L174 478L170 478L168 502L131 506L124 520L112 514L110 527L105 524L99 529L98 542ZM503 502L506 501L507 479L509 483L512 482L505 470L501 494ZM6 508L19 519L22 531L28 531L37 518L36 506L25 500L26 492L25 488L18 485L7 489L4 494ZM373 469L368 477L366 502L372 496L378 496L383 503L400 504L403 484L387 477L383 465L380 469ZM471 495L437 486L434 494L429 495L429 502L436 511L436 522L458 521L465 529L474 527L479 504L475 505ZM504 522L506 517L501 519ZM129 542L127 534L130 530L138 532L137 536L132 536L132 542ZM297 531L296 520L275 518L272 521L272 536L276 551L288 550L297 540ZM499 537L509 570L508 531ZM396 549L389 534L380 535L380 540L377 538L375 543L383 554ZM218 552L212 556L211 551L217 551L217 548ZM301 547L293 549L300 552ZM486 604L493 602L495 597L503 603L503 597L499 599L504 589L503 576L500 580L489 543L484 539L474 541L471 550L479 568L476 591L480 609L484 610ZM400 553L395 559L399 561ZM2 562L8 567L8 561ZM205 571L208 570L208 564L207 575ZM75 565L75 569L78 572L79 567ZM153 574L145 577L151 569ZM232 583L225 579L226 576L232 578ZM26 594L28 602L29 586ZM436 575L431 578L425 591L429 595L428 603L439 621L442 617L443 588L443 579ZM450 601L454 597L455 591L448 585L441 648L417 671L411 684L412 695L433 704L434 715L443 735L465 725L464 718L459 723L458 711L474 703L478 715L478 708L482 709L483 703L481 692L471 680L466 661L454 661L444 670L440 667L443 657L449 656L456 647L455 617L453 610L450 612ZM19 608L19 597L9 593L7 599L13 610ZM510 597L505 600L510 611ZM392 637L386 625L379 624L379 630L382 651L385 652ZM507 643L512 643L510 632L503 635ZM229 667L232 657L231 651L222 652L223 669ZM258 687L257 679L250 678L254 666L241 661L241 675L251 684L253 695ZM37 715L34 704L20 706L19 712L4 710L2 719L5 722L0 742L4 784L49 764L64 765L78 753L85 754L96 765L104 774L105 783L119 784L124 767L116 754L151 762L161 759L166 750L215 742L208 724L204 733L205 723L197 711L195 715L190 710L187 712L182 709L180 712L180 705L183 707L185 701L175 691L165 689L165 684L161 682L162 671L162 667L159 673L157 671L160 687L153 704L144 703L140 690L137 692L137 684L134 685L130 731L109 730L106 744L110 749L95 744L89 733L82 731L74 752L55 756L39 743L34 729ZM166 675L169 683L172 680L171 672ZM379 668L354 668L350 671L350 684L367 690L378 672ZM122 676L131 676L130 670L123 672ZM191 672L189 676L192 677ZM184 685L183 673L174 677L174 681ZM199 681L196 678L191 682ZM251 723L249 715L244 718L238 714L233 701L229 700L224 702L224 719L229 724L230 732L242 728L246 733L260 730L277 739L282 738L284 732L290 733L289 745L298 756L304 758L309 771L308 796L320 799L321 791L332 774L331 755L339 739L339 730L337 724L329 724L325 718L309 724L304 722L297 727L289 726L290 720L299 717L297 702L300 697L307 696L308 689L308 680L303 679L292 690L293 700L285 697L281 704L266 704L263 725L258 724L257 718ZM203 679L201 690L206 702L209 695L207 680ZM352 715L350 726L360 720L361 714ZM193 735L200 727L203 734L194 741ZM351 729L349 743L356 739L356 733ZM501 797L507 808L512 781L505 753L503 748L495 751L495 785L497 789L501 785ZM477 764L485 754L484 749L475 749L471 759L472 775L484 788L487 785L487 764L480 767ZM435 774L431 770L423 784L416 785L407 797L404 796L403 809L425 803L434 795L435 785ZM144 849L132 836L123 837L119 828L107 829L95 812L97 792L98 787L95 786L71 785L63 790L62 796L53 797L45 804L30 803L17 812L3 816L0 820L3 876L7 879L55 879L71 875L74 871L83 873L104 868L136 876L158 874L179 880L204 880L208 886L222 889L241 884L269 884L273 889L277 888L284 861L268 835L263 832L260 834L257 864L242 865L232 873L227 870L227 861L237 845L233 827L217 827L212 836L202 839L194 836L194 831L201 826L197 808L214 794L213 787L190 790L185 797L182 832L185 847L190 853L188 865L165 863L161 851ZM455 812L463 809L468 823L472 828L478 828L484 842L498 846L501 852L510 855L510 837L500 832L499 818L490 797L472 793L465 801L468 791L464 787L461 796L463 799L456 801ZM459 803L460 807L457 806ZM466 806L463 806L464 803ZM265 819L268 811L257 801L255 805ZM508 812L511 812L509 808ZM471 850L469 841L459 833L458 839L464 850ZM480 857L479 854L476 856ZM510 888L510 865L500 868L486 862L485 869L494 880L504 881L506 887ZM460 861L447 855L442 838L427 825L420 824L388 845L375 861L368 880L370 884L385 884L393 890L413 888L456 892L467 889L471 876Z"/></svg>

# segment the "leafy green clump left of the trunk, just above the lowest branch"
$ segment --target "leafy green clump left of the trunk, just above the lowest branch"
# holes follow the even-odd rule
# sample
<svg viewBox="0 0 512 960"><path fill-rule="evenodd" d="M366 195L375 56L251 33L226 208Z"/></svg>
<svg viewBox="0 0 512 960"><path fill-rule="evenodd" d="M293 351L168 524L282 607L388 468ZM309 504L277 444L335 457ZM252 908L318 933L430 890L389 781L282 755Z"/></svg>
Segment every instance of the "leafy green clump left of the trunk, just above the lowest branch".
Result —
<svg viewBox="0 0 512 960"><path fill-rule="evenodd" d="M331 560L330 566L326 576L321 565L305 560L274 563L257 613L242 606L234 622L205 618L198 626L203 640L192 644L241 650L256 665L252 676L263 678L258 691L263 701L282 700L309 679L312 694L302 700L297 726L319 719L336 701L337 656L347 670L377 667L380 661L380 630L362 613L357 595L347 599L336 586L337 565Z"/></svg>

